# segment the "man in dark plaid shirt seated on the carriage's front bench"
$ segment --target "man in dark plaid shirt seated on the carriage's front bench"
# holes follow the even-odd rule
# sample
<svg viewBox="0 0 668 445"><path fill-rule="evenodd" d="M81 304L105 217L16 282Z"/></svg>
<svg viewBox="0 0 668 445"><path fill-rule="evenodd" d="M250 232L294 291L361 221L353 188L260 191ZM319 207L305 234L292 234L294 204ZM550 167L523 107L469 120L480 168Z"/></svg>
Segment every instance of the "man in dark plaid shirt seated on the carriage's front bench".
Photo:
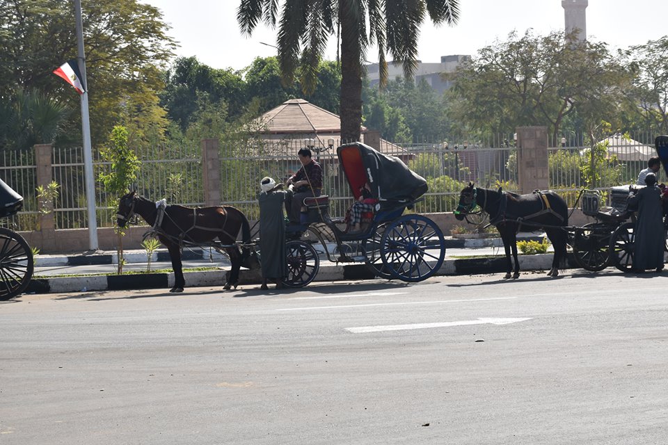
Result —
<svg viewBox="0 0 668 445"><path fill-rule="evenodd" d="M301 168L285 181L294 186L292 199L285 200L285 210L291 225L299 225L299 213L305 197L320 196L322 190L322 167L311 159L311 150L303 148L297 153Z"/></svg>

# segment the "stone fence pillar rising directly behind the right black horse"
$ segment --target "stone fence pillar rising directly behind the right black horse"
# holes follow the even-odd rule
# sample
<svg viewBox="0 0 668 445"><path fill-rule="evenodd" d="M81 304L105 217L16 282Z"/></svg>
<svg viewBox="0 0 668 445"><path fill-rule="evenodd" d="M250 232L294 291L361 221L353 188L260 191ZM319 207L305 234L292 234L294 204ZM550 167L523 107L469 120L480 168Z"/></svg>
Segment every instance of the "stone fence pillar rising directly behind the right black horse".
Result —
<svg viewBox="0 0 668 445"><path fill-rule="evenodd" d="M547 190L548 127L517 127L517 173L521 193Z"/></svg>

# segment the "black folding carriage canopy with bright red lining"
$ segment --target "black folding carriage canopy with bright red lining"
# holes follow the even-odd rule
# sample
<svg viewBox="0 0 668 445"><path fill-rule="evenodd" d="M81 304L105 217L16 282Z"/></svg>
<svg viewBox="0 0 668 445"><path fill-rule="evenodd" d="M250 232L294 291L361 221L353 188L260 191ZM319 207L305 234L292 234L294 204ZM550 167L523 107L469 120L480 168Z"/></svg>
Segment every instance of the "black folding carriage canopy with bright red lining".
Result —
<svg viewBox="0 0 668 445"><path fill-rule="evenodd" d="M367 181L372 195L381 202L414 201L427 192L427 181L396 156L358 142L338 147L336 154L355 199Z"/></svg>

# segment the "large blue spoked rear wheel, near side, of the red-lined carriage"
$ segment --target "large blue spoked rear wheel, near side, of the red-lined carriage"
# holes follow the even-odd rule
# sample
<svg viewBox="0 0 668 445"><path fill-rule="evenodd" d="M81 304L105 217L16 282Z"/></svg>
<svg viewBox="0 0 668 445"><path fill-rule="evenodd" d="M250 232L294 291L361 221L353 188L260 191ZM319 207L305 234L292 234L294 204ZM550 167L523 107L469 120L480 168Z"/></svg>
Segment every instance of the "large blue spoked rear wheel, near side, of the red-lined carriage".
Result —
<svg viewBox="0 0 668 445"><path fill-rule="evenodd" d="M383 266L392 277L418 282L427 280L443 265L445 238L429 218L406 215L385 229L380 250Z"/></svg>

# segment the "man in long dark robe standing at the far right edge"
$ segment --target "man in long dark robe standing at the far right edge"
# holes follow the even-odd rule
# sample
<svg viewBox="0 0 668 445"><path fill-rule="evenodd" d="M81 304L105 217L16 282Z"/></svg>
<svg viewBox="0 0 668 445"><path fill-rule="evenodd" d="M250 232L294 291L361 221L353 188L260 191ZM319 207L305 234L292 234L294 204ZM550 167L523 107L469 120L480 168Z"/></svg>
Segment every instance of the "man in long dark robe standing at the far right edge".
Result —
<svg viewBox="0 0 668 445"><path fill-rule="evenodd" d="M638 209L634 230L633 268L637 272L663 270L663 249L666 236L663 227L661 191L656 186L656 175L645 177L646 187L628 198L628 205Z"/></svg>

